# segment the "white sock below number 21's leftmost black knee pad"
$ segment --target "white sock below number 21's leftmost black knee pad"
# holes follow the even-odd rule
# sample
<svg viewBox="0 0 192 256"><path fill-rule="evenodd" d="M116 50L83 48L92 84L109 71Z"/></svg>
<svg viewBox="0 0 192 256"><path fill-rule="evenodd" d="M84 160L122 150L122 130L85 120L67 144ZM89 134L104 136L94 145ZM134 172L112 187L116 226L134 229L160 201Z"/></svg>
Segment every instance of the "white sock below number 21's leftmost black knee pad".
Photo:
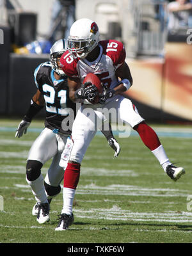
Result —
<svg viewBox="0 0 192 256"><path fill-rule="evenodd" d="M44 177L42 174L33 181L30 181L26 177L26 181L28 182L29 186L31 187L33 195L35 195L36 202L40 204L48 203L47 196L45 194L45 187L44 187Z"/></svg>

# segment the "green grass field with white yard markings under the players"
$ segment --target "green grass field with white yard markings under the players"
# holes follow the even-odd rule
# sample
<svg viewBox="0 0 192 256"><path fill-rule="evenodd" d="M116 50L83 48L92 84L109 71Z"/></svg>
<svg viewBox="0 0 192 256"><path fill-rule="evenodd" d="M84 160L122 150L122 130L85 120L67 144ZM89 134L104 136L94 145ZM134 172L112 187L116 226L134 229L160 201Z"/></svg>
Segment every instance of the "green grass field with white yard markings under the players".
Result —
<svg viewBox="0 0 192 256"><path fill-rule="evenodd" d="M116 159L106 139L95 136L82 163L74 224L56 232L62 193L51 202L51 221L40 225L31 214L35 198L25 179L28 150L44 124L34 121L28 134L16 139L19 122L0 120L0 243L192 243L190 127L152 126L170 160L186 169L177 182L136 134L116 136L122 148Z"/></svg>

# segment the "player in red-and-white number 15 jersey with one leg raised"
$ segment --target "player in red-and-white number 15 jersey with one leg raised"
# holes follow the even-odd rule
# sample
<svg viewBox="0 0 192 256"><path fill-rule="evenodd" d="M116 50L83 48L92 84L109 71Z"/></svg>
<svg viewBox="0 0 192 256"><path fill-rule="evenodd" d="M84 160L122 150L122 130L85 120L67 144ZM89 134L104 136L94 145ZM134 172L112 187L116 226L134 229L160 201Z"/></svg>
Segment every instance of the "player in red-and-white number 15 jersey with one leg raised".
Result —
<svg viewBox="0 0 192 256"><path fill-rule="evenodd" d="M131 100L120 94L129 90L132 85L131 72L125 62L125 49L121 42L100 41L97 24L90 19L79 19L70 28L68 51L61 56L60 62L63 71L68 76L70 99L74 102L79 99L84 100L72 127L74 146L64 174L63 209L58 227L55 229L67 230L72 218L72 202L79 181L81 161L96 133L93 116L86 115L86 108L92 108L95 116L100 120L108 119L102 113L102 109L115 108L120 119L138 132L143 143L157 157L164 172L171 179L179 179L184 173L184 168L177 168L170 163L156 132L145 123ZM99 76L105 86L104 92L100 95L100 104L92 106L87 104L88 95L84 94L83 86L79 88L79 81L83 83L84 77L90 72ZM92 90L94 90L94 85L92 85Z"/></svg>

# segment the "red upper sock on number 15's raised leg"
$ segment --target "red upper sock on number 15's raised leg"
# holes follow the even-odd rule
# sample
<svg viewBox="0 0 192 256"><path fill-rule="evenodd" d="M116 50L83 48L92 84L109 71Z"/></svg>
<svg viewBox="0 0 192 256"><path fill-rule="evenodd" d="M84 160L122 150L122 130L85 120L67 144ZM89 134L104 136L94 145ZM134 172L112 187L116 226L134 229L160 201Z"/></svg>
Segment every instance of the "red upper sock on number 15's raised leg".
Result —
<svg viewBox="0 0 192 256"><path fill-rule="evenodd" d="M150 150L154 150L161 145L156 132L144 121L133 127L141 137L141 140Z"/></svg>

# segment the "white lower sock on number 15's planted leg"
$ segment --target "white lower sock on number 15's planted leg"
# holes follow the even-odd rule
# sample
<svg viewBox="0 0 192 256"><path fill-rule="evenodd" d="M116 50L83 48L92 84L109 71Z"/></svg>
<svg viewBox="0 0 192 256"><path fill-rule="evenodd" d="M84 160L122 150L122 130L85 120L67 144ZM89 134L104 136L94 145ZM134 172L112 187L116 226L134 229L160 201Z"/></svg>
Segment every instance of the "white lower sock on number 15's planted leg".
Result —
<svg viewBox="0 0 192 256"><path fill-rule="evenodd" d="M65 213L72 215L73 200L76 193L76 189L63 188L63 209L61 214Z"/></svg>

